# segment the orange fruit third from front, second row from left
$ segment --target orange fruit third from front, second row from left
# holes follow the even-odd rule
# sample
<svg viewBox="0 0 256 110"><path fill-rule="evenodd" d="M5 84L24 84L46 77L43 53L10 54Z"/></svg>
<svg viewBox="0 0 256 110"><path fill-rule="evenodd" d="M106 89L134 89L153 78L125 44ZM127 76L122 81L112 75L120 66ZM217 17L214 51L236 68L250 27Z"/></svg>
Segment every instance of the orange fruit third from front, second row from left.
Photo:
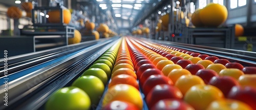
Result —
<svg viewBox="0 0 256 110"><path fill-rule="evenodd" d="M112 73L112 77L114 76L117 76L117 75L120 75L120 74L126 74L126 75L130 75L132 77L134 77L135 79L137 79L137 76L135 74L135 72L129 68L120 68L120 69L117 69L115 72Z"/></svg>

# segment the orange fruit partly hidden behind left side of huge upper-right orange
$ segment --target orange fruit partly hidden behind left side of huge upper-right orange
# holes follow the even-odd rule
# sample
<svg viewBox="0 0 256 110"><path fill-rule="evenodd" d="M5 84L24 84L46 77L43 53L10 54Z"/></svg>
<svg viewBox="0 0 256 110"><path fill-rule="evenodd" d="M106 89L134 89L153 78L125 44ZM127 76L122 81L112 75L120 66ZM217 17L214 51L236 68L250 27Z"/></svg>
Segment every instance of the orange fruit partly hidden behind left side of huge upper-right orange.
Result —
<svg viewBox="0 0 256 110"><path fill-rule="evenodd" d="M191 16L191 23L195 26L195 27L203 27L204 24L202 23L202 21L200 20L200 11L202 9L197 9Z"/></svg>

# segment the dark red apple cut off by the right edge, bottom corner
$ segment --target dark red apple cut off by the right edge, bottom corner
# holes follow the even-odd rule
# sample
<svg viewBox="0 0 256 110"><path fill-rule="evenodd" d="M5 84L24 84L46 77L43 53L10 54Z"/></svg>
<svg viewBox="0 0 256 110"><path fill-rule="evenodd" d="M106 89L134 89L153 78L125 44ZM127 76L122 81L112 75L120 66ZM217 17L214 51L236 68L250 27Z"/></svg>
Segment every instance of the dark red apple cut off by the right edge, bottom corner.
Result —
<svg viewBox="0 0 256 110"><path fill-rule="evenodd" d="M251 86L233 86L227 98L240 100L256 109L256 88Z"/></svg>

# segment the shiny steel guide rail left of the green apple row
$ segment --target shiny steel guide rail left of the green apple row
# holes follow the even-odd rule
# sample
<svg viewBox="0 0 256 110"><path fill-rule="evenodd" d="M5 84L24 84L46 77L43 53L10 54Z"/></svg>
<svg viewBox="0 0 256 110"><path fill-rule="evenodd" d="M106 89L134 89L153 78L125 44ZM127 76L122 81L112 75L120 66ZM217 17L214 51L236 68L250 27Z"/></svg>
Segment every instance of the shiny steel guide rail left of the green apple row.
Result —
<svg viewBox="0 0 256 110"><path fill-rule="evenodd" d="M41 67L39 69L37 67L32 67L35 71L9 82L9 106L4 106L4 102L0 102L0 109L40 108L45 104L51 93L65 85L70 85L70 83L78 78L94 60L113 46L114 43L118 41L118 38L119 37L114 37L100 40L97 41L95 45L86 47L76 53L73 53L72 51L70 54L63 54L63 59L51 63L46 67ZM58 58L54 58L52 60L57 59ZM4 85L0 86L1 90L3 90L3 87ZM3 95L4 91L1 91L0 96L4 97Z"/></svg>

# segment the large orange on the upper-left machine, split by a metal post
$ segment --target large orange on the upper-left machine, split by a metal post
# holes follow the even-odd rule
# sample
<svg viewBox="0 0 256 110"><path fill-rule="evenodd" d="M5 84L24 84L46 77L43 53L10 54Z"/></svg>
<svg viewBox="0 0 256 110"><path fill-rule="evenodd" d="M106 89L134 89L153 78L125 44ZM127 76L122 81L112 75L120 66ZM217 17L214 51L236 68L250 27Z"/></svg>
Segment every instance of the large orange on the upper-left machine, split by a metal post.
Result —
<svg viewBox="0 0 256 110"><path fill-rule="evenodd" d="M71 20L71 13L68 9L65 9L62 11L63 12L63 23L64 24L69 24L70 20ZM49 15L49 23L60 23L60 11L59 10L53 10L53 11L49 11L47 13Z"/></svg>

